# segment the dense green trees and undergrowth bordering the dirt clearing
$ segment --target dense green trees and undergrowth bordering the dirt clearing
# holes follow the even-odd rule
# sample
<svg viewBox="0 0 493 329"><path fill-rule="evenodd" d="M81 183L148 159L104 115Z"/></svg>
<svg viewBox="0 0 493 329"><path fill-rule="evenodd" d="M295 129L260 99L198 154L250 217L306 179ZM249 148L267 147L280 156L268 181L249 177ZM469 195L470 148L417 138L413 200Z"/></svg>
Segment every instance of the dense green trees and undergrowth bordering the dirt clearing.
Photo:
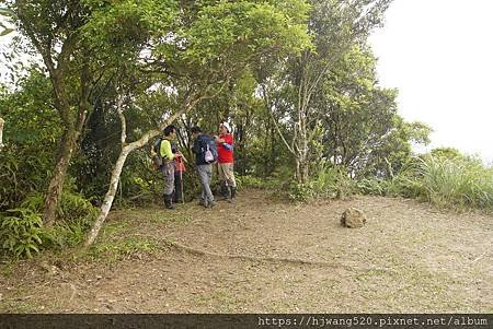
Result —
<svg viewBox="0 0 493 329"><path fill-rule="evenodd" d="M186 200L198 190L191 128L228 120L240 188L491 210L492 169L454 150L415 157L431 129L405 122L398 91L378 84L367 37L389 2L7 1L0 13L37 60L0 87L0 248L80 244L111 177L117 205L161 202L149 131L173 114Z"/></svg>

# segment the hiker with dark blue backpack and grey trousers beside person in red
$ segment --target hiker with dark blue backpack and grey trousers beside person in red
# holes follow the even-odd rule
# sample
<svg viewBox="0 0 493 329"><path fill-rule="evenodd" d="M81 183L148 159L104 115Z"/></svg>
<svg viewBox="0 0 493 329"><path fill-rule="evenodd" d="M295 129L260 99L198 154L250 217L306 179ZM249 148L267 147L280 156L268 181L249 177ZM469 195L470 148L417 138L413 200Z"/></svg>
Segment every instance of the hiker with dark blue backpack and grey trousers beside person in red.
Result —
<svg viewBox="0 0 493 329"><path fill-rule="evenodd" d="M217 148L215 140L203 133L199 127L192 128L194 145L192 152L195 154L195 164L200 179L202 195L199 204L205 208L213 208L216 204L213 191L210 190L210 179L213 177L213 164L217 161Z"/></svg>

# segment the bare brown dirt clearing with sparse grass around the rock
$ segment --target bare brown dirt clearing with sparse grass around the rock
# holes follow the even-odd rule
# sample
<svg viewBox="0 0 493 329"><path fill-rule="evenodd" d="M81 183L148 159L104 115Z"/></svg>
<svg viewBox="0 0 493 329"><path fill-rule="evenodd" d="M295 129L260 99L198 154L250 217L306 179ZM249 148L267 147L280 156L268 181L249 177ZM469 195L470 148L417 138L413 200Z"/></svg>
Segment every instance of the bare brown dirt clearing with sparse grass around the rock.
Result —
<svg viewBox="0 0 493 329"><path fill-rule="evenodd" d="M368 219L344 228L348 207ZM88 255L4 263L1 313L492 313L493 215L354 197L114 211Z"/></svg>

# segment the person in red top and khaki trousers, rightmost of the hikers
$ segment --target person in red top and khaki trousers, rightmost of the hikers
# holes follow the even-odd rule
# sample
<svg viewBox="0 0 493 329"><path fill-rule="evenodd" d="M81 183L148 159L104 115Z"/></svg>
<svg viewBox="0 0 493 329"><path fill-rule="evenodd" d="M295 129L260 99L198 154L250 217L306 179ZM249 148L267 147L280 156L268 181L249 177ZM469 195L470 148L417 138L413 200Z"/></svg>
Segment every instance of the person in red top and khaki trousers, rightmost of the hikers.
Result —
<svg viewBox="0 0 493 329"><path fill-rule="evenodd" d="M219 136L215 137L217 144L217 162L219 171L219 180L221 181L221 193L223 200L229 202L236 201L237 181L234 180L234 154L233 154L233 136L231 127L228 122L219 125Z"/></svg>

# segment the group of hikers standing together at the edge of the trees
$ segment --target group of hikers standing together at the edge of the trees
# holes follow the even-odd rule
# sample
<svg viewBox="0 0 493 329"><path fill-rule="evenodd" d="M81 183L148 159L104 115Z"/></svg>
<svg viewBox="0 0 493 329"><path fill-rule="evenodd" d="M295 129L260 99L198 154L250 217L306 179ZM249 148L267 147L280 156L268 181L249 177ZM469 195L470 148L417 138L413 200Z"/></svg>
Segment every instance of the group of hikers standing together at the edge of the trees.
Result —
<svg viewBox="0 0 493 329"><path fill-rule="evenodd" d="M213 165L217 164L221 196L223 200L231 203L236 201L237 183L233 173L233 137L231 126L228 122L219 125L219 134L210 137L202 131L199 127L192 130L195 165L200 180L202 193L198 204L205 208L213 208L216 204L210 181L213 176ZM181 203L183 198L183 172L185 156L180 152L175 143L176 127L170 125L164 128L162 138L154 144L154 162L164 177L164 207L174 209L174 203Z"/></svg>

